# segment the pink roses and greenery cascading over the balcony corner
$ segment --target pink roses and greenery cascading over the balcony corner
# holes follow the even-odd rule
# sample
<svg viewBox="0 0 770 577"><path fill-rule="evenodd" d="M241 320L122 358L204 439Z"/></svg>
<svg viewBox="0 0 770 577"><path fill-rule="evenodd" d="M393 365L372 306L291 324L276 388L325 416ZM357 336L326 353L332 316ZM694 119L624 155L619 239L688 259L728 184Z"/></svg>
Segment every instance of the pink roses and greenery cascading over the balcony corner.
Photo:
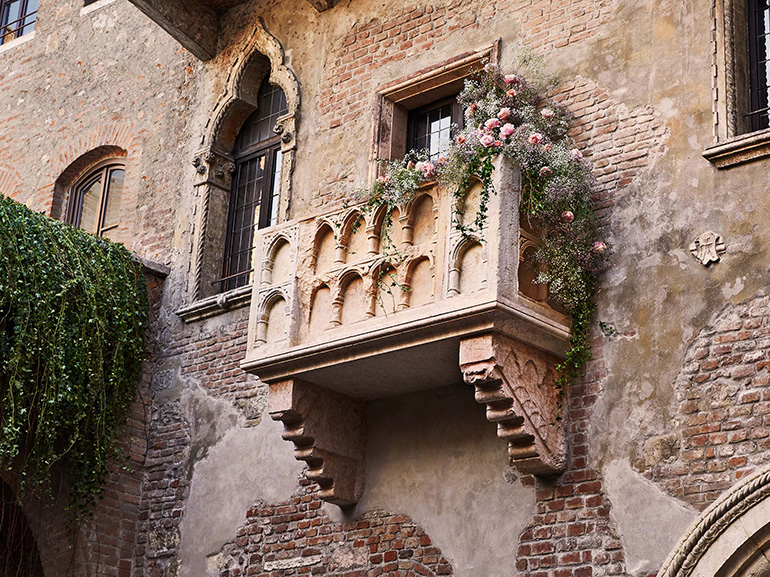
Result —
<svg viewBox="0 0 770 577"><path fill-rule="evenodd" d="M545 231L536 256L536 282L548 285L550 297L572 319L570 350L557 367L563 389L579 376L591 357L588 344L595 310L596 275L606 266L609 248L593 209L594 180L590 162L571 145L567 111L545 103L543 87L518 74L502 74L493 64L466 80L458 100L465 126L444 156L431 161L426 151L410 152L387 163L368 192L370 208L393 208L417 189L438 180L462 201L475 179L481 181L475 222L457 223L467 235L484 228L487 206L495 193L494 159L514 159L522 176L522 218ZM458 202L458 205L461 202Z"/></svg>

